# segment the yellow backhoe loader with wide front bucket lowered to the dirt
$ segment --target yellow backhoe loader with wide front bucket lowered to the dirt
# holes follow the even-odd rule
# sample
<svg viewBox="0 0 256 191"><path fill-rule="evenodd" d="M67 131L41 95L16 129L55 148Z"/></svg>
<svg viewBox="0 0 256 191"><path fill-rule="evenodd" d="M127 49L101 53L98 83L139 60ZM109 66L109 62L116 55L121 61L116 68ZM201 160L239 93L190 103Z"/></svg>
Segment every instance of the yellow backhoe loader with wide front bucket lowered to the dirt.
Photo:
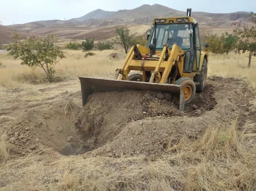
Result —
<svg viewBox="0 0 256 191"><path fill-rule="evenodd" d="M187 16L153 19L147 39L147 47L135 44L130 48L114 79L79 77L83 105L94 92L150 90L176 94L180 110L184 110L195 92L204 89L207 77L208 44L202 51L191 9L187 9Z"/></svg>

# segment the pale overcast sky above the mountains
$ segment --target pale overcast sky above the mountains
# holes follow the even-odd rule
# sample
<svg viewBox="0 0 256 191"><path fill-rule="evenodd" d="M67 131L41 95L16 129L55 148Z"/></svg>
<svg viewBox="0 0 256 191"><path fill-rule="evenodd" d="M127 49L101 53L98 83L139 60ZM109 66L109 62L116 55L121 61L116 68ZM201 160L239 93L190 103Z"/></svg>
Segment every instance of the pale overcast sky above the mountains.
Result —
<svg viewBox="0 0 256 191"><path fill-rule="evenodd" d="M86 15L95 9L118 11L155 3L179 11L192 8L192 11L212 13L256 12L256 0L0 0L0 21L8 25L38 20L63 20Z"/></svg>

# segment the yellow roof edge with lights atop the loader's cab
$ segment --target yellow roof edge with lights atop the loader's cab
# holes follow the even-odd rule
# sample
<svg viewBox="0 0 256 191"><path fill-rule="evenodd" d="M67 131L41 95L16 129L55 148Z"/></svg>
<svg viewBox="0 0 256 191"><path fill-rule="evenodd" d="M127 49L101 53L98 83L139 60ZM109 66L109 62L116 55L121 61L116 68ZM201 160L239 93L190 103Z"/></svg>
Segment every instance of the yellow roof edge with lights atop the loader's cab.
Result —
<svg viewBox="0 0 256 191"><path fill-rule="evenodd" d="M157 21L157 22L156 22ZM196 24L197 21L190 16L179 17L157 17L153 19L153 24L169 24L169 23L192 23Z"/></svg>

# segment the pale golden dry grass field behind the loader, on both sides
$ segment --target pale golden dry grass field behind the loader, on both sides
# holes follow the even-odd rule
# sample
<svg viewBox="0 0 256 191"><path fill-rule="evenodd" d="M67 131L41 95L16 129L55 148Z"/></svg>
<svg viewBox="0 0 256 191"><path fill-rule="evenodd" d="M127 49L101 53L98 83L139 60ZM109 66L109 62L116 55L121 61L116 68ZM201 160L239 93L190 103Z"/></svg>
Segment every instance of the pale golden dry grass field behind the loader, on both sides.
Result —
<svg viewBox="0 0 256 191"><path fill-rule="evenodd" d="M56 76L77 77L102 76L109 77L114 74L117 67L121 67L125 54L122 50L104 50L94 51L94 56L84 58L84 52L64 50L66 59L61 60L57 65ZM109 54L117 52L118 59L111 58ZM242 78L250 82L251 86L256 88L256 58L252 58L251 68L247 68L248 58L245 54L229 55L210 54L208 64L208 75L217 75L221 77ZM0 54L0 62L5 67L0 68L0 85L8 88L26 87L28 84L40 82L44 79L44 72L39 68L30 68L20 65L20 60L13 59L7 53Z"/></svg>

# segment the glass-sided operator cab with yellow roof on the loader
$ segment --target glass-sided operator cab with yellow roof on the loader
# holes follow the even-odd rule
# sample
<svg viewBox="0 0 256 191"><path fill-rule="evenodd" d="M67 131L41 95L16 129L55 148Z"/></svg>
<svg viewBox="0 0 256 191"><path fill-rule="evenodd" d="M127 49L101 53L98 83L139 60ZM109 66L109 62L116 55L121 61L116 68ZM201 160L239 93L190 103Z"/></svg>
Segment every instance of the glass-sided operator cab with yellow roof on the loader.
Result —
<svg viewBox="0 0 256 191"><path fill-rule="evenodd" d="M202 48L198 23L191 17L191 9L187 9L187 16L155 18L147 35L148 47L154 49L153 54L162 51L167 44L170 50L173 44L177 44L185 52L184 72L191 73L194 63L199 69Z"/></svg>

